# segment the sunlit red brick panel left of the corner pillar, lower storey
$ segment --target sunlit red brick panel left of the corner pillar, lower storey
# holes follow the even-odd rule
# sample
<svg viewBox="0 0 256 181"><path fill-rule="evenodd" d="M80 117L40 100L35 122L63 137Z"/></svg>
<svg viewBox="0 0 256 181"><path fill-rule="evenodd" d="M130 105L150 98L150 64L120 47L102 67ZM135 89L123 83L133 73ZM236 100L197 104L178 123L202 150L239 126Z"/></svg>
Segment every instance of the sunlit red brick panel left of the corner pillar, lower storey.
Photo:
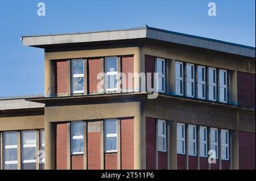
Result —
<svg viewBox="0 0 256 181"><path fill-rule="evenodd" d="M134 120L121 120L121 169L134 169Z"/></svg>

